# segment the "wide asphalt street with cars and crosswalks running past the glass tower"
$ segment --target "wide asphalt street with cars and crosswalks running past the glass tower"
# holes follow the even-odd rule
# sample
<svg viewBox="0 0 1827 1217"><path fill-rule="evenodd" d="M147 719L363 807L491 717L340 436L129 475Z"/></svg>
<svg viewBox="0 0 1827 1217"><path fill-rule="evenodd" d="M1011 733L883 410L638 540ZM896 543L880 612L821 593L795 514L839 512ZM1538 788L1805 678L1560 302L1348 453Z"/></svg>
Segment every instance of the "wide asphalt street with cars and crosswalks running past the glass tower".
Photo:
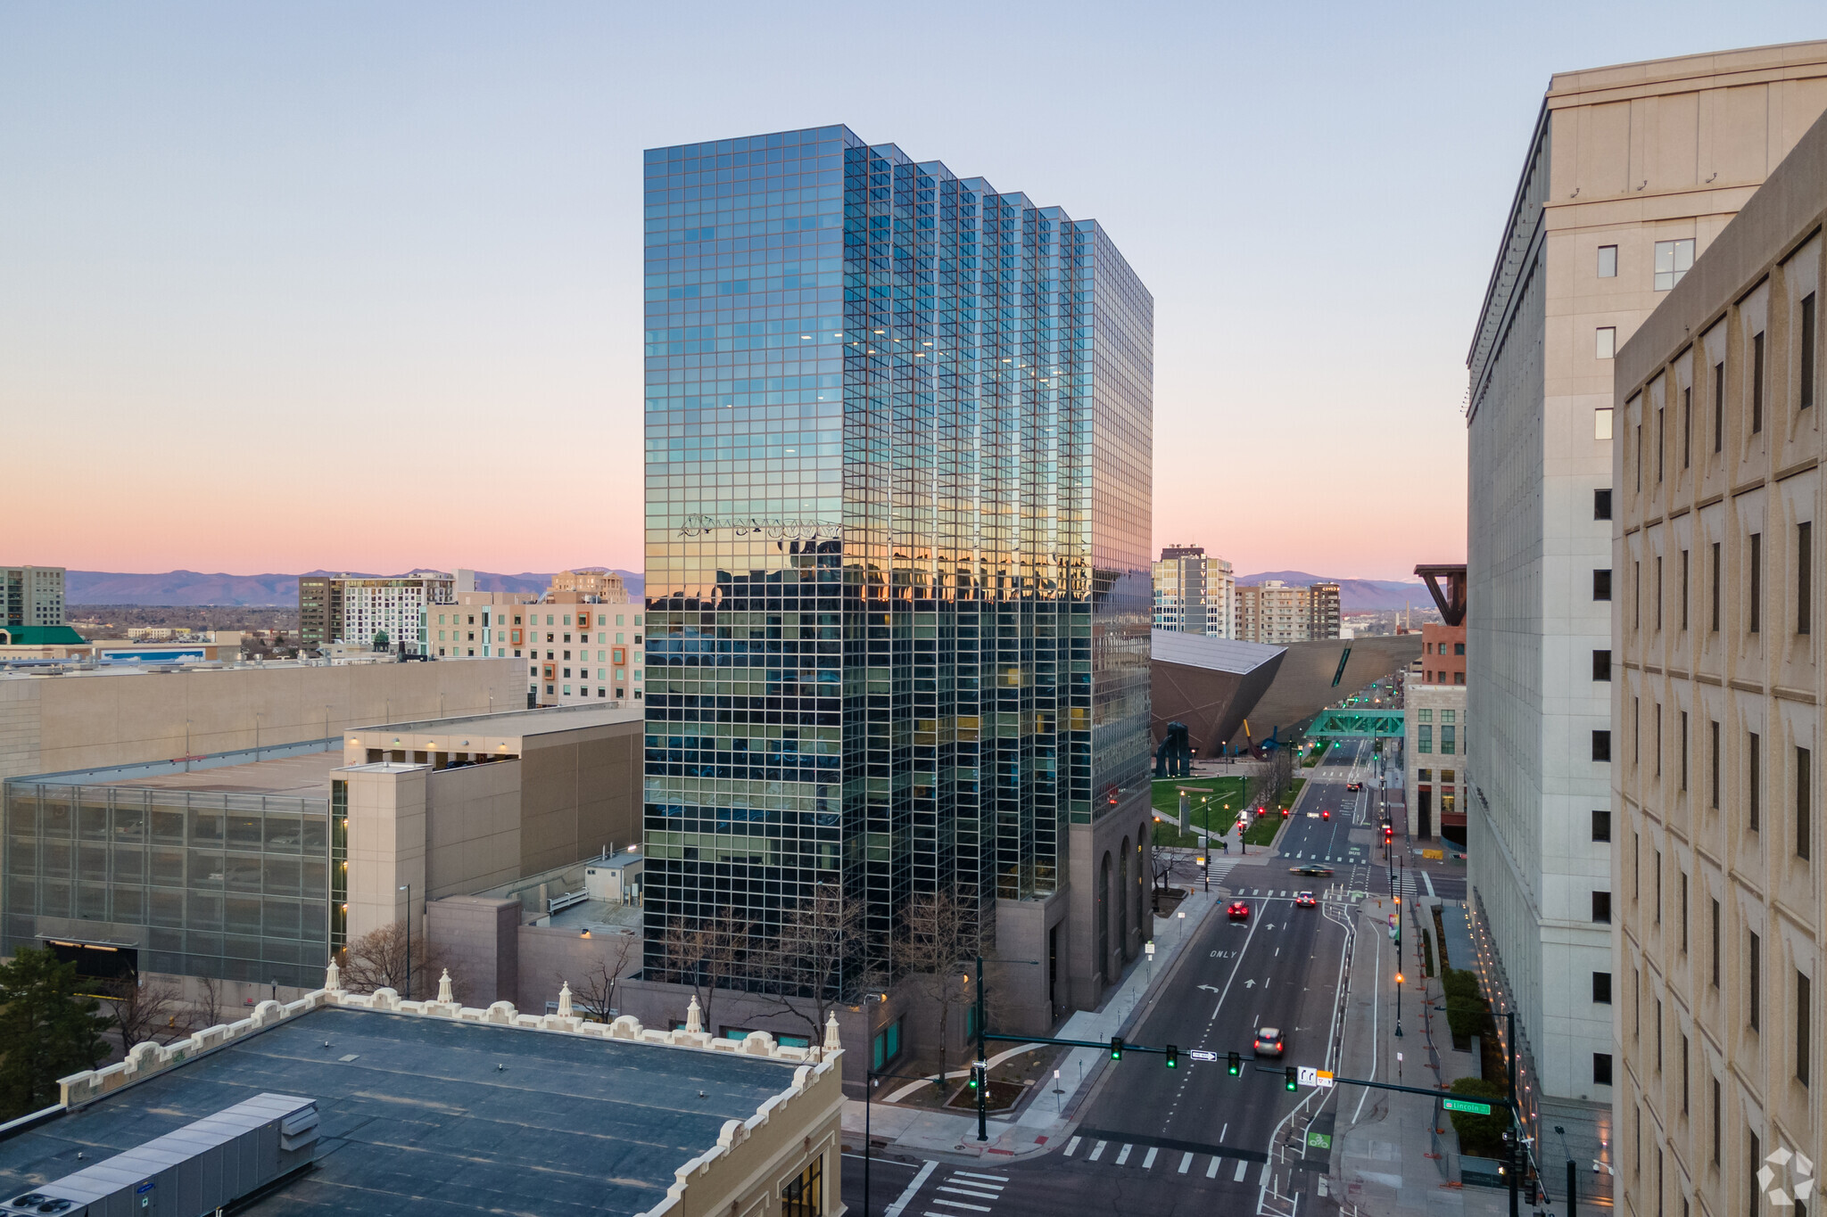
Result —
<svg viewBox="0 0 1827 1217"><path fill-rule="evenodd" d="M1368 779L1368 741L1346 741L1328 763L1356 761L1354 775ZM1346 790L1352 774L1328 768L1326 781L1319 781L1317 772L1306 770L1308 785L1283 830L1279 856L1251 852L1215 869L1217 881L1250 905L1248 920L1211 914L1131 1033L1136 1044L1175 1044L1178 1069L1135 1053L1105 1064L1080 1108L1076 1137L1056 1153L1007 1164L935 1164L908 1197L903 1217L1292 1212L1290 1197L1306 1191L1312 1175L1272 1164L1270 1149L1295 1104L1314 1097L1290 1093L1284 1067L1325 1067L1337 1031L1346 918L1328 914L1325 898L1343 909L1352 892L1389 890L1374 845L1372 792ZM1321 817L1321 810L1332 817ZM1288 872L1308 861L1330 865L1336 874ZM1323 896L1319 909L1295 907L1294 894L1306 889ZM1255 1058L1251 1040L1264 1025L1283 1029L1283 1060ZM1219 1060L1195 1062L1191 1049L1217 1053ZM1242 1055L1241 1077L1226 1071L1230 1051ZM861 1212L861 1181L851 1195L859 1166L846 1162L844 1199ZM877 1170L875 1212L886 1212L915 1173Z"/></svg>

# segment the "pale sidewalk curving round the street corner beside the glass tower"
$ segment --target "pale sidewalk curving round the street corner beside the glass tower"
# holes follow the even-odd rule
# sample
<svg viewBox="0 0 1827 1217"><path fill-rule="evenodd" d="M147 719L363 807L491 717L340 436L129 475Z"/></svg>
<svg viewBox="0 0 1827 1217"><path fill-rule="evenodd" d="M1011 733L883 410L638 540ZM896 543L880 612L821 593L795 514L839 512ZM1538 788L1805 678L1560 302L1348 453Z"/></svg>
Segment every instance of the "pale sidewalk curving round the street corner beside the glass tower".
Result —
<svg viewBox="0 0 1827 1217"><path fill-rule="evenodd" d="M1255 854L1251 854L1255 858ZM1078 1011L1065 1020L1056 1033L1061 1040L1107 1042L1113 1035L1129 1035L1138 1022L1138 1011L1146 1013L1147 998L1158 993L1158 985L1173 973L1186 941L1199 932L1206 914L1224 900L1224 889L1213 887L1209 892L1199 890L1180 901L1175 916L1155 918L1153 941L1155 962L1140 956L1129 965L1124 982L1111 989L1104 1005L1096 1011ZM1184 912L1184 920L1178 916ZM1018 1049L1019 1051L1019 1049ZM904 1108L871 1098L870 1137L888 1142L888 1149L904 1149L919 1155L965 1155L983 1157L1029 1157L1047 1153L1051 1144L1078 1118L1078 1104L1091 1091L1098 1078L1098 1066L1105 1062L1102 1047L1074 1047L1060 1058L1056 1093L1051 1086L1036 1086L1036 1095L1025 1100L1018 1115L992 1115L988 1118L988 1140L977 1140L977 1117L934 1111L930 1108ZM846 1144L862 1144L862 1100L844 1100ZM850 1140L855 1139L855 1140Z"/></svg>

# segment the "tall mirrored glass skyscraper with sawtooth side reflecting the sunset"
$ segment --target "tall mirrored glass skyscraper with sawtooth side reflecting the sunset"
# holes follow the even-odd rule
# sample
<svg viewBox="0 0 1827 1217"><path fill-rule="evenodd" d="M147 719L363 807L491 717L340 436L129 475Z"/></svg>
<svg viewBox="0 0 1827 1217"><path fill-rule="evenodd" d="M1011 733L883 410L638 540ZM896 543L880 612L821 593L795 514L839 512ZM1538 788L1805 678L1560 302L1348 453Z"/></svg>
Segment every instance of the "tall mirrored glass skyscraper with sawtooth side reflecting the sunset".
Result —
<svg viewBox="0 0 1827 1217"><path fill-rule="evenodd" d="M990 945L1147 806L1153 297L1094 221L844 126L645 188L647 974L824 879L855 974L915 892Z"/></svg>

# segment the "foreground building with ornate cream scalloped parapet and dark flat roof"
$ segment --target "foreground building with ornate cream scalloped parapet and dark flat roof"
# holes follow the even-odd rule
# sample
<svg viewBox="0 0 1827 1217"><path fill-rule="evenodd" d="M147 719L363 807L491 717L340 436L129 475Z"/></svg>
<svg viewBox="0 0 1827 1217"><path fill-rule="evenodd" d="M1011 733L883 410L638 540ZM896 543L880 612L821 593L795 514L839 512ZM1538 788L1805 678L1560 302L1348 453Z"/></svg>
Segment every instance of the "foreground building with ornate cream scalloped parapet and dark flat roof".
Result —
<svg viewBox="0 0 1827 1217"><path fill-rule="evenodd" d="M588 1020L570 994L552 1014L521 1014L464 1005L460 978L438 987L402 1002L347 993L333 973L294 1002L62 1078L57 1108L0 1142L5 1195L46 1197L16 1212L55 1212L40 1204L58 1197L99 1212L80 1202L100 1184L124 1191L122 1212L256 1217L842 1210L835 1027L817 1047L784 1047L766 1033L713 1040L691 1016L680 1031ZM287 1118L232 1159L241 1170L221 1170L201 1133L248 1102ZM157 1173L143 1166L155 1139L170 1164ZM259 1148L285 1170L248 1170ZM216 1190L186 1206L199 1186Z"/></svg>

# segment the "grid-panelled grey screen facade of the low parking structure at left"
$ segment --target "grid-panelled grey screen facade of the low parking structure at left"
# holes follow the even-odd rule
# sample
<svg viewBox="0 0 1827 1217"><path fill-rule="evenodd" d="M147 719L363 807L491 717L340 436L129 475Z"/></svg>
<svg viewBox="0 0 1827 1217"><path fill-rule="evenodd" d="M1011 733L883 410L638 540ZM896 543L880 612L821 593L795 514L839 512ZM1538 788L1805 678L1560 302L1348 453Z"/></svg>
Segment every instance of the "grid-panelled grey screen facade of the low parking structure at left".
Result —
<svg viewBox="0 0 1827 1217"><path fill-rule="evenodd" d="M322 983L329 799L48 781L4 796L7 952L91 921L110 941L144 927L141 971Z"/></svg>

